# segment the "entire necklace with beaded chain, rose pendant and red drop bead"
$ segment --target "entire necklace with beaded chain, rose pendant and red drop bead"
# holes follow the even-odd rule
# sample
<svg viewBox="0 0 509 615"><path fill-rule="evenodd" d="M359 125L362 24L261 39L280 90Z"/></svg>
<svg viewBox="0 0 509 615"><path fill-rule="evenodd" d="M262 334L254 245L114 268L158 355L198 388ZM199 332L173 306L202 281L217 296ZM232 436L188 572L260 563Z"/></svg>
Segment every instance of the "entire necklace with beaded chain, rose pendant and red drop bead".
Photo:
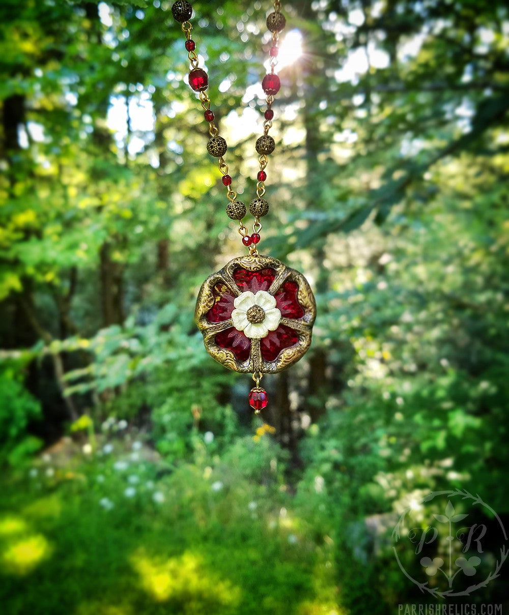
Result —
<svg viewBox="0 0 509 615"><path fill-rule="evenodd" d="M257 196L250 202L249 211L254 218L253 232L249 234L242 218L247 214L246 205L237 199L231 188L232 178L223 156L228 145L218 135L214 124L214 112L206 94L208 76L198 66L196 43L191 39L190 19L193 7L186 0L177 0L172 6L172 15L182 24L186 36L185 48L190 61L189 84L199 92L204 109L204 118L209 122L210 140L207 151L217 158L222 182L226 187L228 204L226 215L239 223L238 232L242 244L249 253L238 256L207 277L201 285L196 300L194 317L204 338L207 352L230 370L251 373L255 386L249 393L249 405L256 414L267 406L267 392L260 387L263 374L276 373L298 361L311 344L311 330L316 317L313 292L305 277L295 269L272 258L260 255L262 223L267 215L268 202L265 194L265 168L268 156L275 149L275 141L268 134L274 117L272 104L281 83L274 69L277 63L279 33L286 25L281 14L281 2L274 2L274 12L267 17L267 28L272 33L270 49L270 73L262 80L267 94L267 109L263 122L263 135L255 144L259 154L260 170L257 174Z"/></svg>

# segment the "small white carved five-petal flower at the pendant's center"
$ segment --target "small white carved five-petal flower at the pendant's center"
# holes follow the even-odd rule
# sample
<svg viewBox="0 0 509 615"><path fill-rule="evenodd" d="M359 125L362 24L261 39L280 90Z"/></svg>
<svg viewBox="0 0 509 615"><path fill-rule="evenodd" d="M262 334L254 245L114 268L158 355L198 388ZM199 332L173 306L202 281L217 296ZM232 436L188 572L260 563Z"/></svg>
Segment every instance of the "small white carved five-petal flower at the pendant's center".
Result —
<svg viewBox="0 0 509 615"><path fill-rule="evenodd" d="M247 338L265 338L268 332L275 331L281 322L281 312L276 308L276 300L266 290L259 290L256 295L246 290L235 298L233 306L233 326L237 331L244 331Z"/></svg>

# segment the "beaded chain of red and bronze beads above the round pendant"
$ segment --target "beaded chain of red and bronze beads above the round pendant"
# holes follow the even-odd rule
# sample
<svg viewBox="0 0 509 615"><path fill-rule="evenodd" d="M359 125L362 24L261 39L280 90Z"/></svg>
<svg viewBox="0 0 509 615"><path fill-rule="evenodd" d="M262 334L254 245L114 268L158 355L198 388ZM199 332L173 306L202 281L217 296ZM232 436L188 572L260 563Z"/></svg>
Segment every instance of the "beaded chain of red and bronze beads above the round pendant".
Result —
<svg viewBox="0 0 509 615"><path fill-rule="evenodd" d="M228 145L225 139L219 136L219 130L214 124L214 112L210 109L210 98L205 92L209 85L209 77L206 71L198 66L196 43L191 39L193 25L190 22L190 18L192 14L193 7L190 2L186 0L177 0L172 6L172 15L177 22L182 23L182 31L186 35L185 48L188 52L190 61L189 84L194 92L199 92L201 106L204 108L203 115L206 121L209 122L210 140L207 143L207 151L210 156L217 158L219 170L223 175L222 182L223 185L226 186L226 196L228 197L226 215L228 215L231 220L238 220L238 232L242 236L242 244L249 248L249 254L251 256L258 256L259 253L256 246L260 241L260 231L262 230L260 218L267 215L269 210L267 201L262 198L265 194L265 180L267 180L265 168L268 164L268 156L273 153L275 149L275 141L268 132L272 127L272 119L274 117L274 111L272 109L274 96L279 92L279 88L281 87L281 82L279 81L279 77L275 74L274 69L278 63L276 58L279 52L279 33L286 25L286 20L284 15L281 14L281 2L274 2L274 12L270 13L267 17L267 28L272 33L272 46L270 48L271 71L262 79L263 92L267 94L267 109L263 114L265 118L263 122L263 135L257 139L255 144L255 149L259 154L260 170L257 175L257 197L249 204L249 211L254 217L253 232L249 235L247 227L242 223L242 218L244 218L247 213L246 205L244 205L241 200L237 200L237 193L231 188L233 180L231 176L228 175L228 165L223 158L228 149Z"/></svg>

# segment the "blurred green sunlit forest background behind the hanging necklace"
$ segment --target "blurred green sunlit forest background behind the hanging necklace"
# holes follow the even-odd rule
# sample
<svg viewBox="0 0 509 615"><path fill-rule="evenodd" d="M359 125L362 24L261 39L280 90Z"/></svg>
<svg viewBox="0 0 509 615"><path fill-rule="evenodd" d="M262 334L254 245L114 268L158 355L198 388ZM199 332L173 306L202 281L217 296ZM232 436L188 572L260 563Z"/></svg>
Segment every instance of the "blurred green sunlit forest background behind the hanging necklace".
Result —
<svg viewBox="0 0 509 615"><path fill-rule="evenodd" d="M269 4L194 3L247 201ZM447 601L438 560L420 591L391 531L439 490L507 526L507 4L283 3L260 250L305 273L318 319L264 379L262 419L193 324L202 280L243 250L170 8L0 6L2 613Z"/></svg>

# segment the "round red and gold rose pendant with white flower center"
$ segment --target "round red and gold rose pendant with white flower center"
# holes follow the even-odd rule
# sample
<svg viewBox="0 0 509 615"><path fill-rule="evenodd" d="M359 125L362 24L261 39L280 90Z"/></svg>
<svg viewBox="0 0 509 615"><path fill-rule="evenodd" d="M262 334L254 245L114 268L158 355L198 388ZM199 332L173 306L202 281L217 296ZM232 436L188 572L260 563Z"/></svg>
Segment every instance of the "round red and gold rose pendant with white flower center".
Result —
<svg viewBox="0 0 509 615"><path fill-rule="evenodd" d="M230 370L276 373L302 357L316 317L305 277L270 256L239 256L201 285L194 318Z"/></svg>

